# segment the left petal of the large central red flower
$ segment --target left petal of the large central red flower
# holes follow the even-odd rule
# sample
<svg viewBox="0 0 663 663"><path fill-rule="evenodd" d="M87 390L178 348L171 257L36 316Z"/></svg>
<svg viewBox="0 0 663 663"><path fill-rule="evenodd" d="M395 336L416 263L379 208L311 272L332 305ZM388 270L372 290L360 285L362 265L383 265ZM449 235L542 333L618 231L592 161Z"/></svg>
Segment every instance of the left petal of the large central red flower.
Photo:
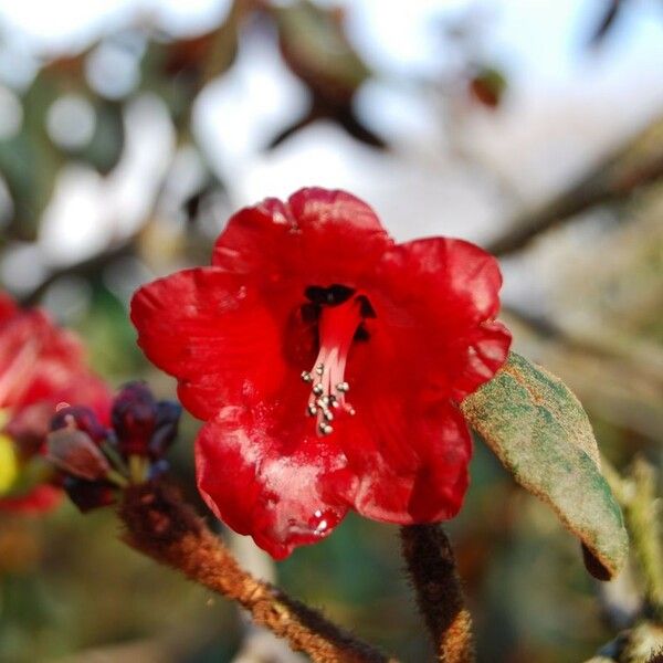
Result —
<svg viewBox="0 0 663 663"><path fill-rule="evenodd" d="M201 419L228 402L276 390L286 330L275 316L245 277L214 267L160 278L131 301L138 344L178 378L182 403Z"/></svg>

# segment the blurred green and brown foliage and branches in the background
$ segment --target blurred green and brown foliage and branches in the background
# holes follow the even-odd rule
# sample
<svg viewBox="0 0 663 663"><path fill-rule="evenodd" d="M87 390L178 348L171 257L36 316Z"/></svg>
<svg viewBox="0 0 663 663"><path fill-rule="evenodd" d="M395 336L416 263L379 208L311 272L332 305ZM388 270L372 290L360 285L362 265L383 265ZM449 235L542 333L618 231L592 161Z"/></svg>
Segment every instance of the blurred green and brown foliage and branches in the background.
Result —
<svg viewBox="0 0 663 663"><path fill-rule="evenodd" d="M620 20L622 4L625 0L604 3L594 42ZM208 224L209 217L227 215L227 190L208 146L192 129L193 107L204 90L232 72L250 35L274 38L274 56L281 53L308 98L304 114L288 118L265 149L319 119L365 145L388 147L365 124L370 117L355 113L359 91L383 73L372 71L352 45L343 11L308 0L235 0L219 24L198 35L168 34L139 21L99 36L80 53L44 57L22 86L3 84L18 99L22 119L15 133L0 139L0 175L9 193L7 202L0 196L6 206L0 262L39 244L40 223L64 168L84 164L113 177L126 156L133 102L151 94L167 109L175 149L155 190L146 185L149 200L137 227L118 231L80 262L25 266L45 273L22 297L46 305L76 328L95 368L114 385L144 377L160 397L173 396L172 381L148 366L135 345L127 302L141 281L209 256L219 228L218 220ZM470 94L495 113L507 112L503 67L472 49L463 53L454 70L463 101ZM591 251L585 243L560 254L554 322L517 308L508 322L518 351L578 393L602 452L620 467L636 452L656 464L662 459L660 134L656 120L611 160L570 182L543 211L518 217L515 234L501 238L513 253L529 250L529 241L544 233L544 242L564 244L561 221L581 227L583 214L602 212L596 223L590 219L596 228ZM642 149L631 149L634 145ZM182 155L200 171L183 192L177 169ZM197 425L185 420L171 453L191 499L197 498L191 453ZM480 661L589 657L624 627L615 614L627 614L628 621L632 588L620 586L612 598L598 590L576 541L543 505L516 488L480 441L471 473L466 505L450 532L476 623ZM0 515L0 661L75 663L94 661L93 652L147 663L232 660L244 633L234 609L130 551L117 534L112 512L83 518L65 505L39 520ZM402 660L422 661L429 644L402 566L394 527L350 516L334 536L297 550L277 572L293 596L323 606Z"/></svg>

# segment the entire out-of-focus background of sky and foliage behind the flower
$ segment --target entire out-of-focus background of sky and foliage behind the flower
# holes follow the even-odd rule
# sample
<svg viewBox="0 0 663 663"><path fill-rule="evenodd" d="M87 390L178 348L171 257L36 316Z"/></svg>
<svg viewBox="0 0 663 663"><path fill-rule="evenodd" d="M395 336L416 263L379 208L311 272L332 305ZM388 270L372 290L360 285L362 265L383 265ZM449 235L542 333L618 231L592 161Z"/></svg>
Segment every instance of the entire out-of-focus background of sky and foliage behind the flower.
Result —
<svg viewBox="0 0 663 663"><path fill-rule="evenodd" d="M173 396L130 294L207 263L236 208L307 185L366 199L398 240L495 252L515 348L572 387L617 466L661 467L660 0L0 0L0 283L77 329L112 383ZM192 498L196 430L171 459ZM634 607L628 573L598 588L481 442L472 477L450 530L480 660L590 657ZM1 516L0 661L295 660L117 534L110 509ZM430 656L396 527L349 517L276 567L232 545Z"/></svg>

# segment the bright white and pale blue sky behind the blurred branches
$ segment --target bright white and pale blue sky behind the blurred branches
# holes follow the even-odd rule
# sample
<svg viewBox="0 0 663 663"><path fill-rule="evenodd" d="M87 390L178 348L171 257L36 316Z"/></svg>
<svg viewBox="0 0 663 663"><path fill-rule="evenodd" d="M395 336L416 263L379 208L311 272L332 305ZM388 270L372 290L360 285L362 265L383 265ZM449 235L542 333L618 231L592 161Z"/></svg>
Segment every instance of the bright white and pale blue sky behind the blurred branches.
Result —
<svg viewBox="0 0 663 663"><path fill-rule="evenodd" d="M443 233L487 241L515 212L505 207L495 173L512 203L535 206L663 108L656 0L631 0L594 53L583 45L603 0L409 0L407 11L396 0L345 6L350 39L381 74L361 92L359 112L394 150L377 154L319 124L265 155L261 147L305 108L306 97L270 44L249 43L196 108L196 134L231 182L233 207L316 183L366 198L399 240ZM463 161L450 157L439 99L411 81L435 81L453 62L440 34L470 8L482 36L477 56L503 66L509 94L497 113L460 109L452 138ZM21 66L29 70L30 54L75 52L136 17L194 34L227 11L227 0L0 0L0 30L25 54L20 63L0 62L0 70L14 67L18 75ZM21 248L14 265L30 259L25 251L52 264L80 260L131 232L145 211L140 188L162 176L172 131L149 98L130 106L127 127L127 151L106 180L78 167L62 175L40 244ZM11 265L0 266L0 277ZM33 277L41 276L34 271Z"/></svg>

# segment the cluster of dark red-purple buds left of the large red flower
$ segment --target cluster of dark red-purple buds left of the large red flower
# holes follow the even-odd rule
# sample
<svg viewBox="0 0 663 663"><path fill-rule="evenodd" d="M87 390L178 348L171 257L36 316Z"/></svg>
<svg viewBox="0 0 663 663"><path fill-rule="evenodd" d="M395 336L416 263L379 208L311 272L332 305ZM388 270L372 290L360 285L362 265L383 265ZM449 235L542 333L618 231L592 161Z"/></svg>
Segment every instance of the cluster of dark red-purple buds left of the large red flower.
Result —
<svg viewBox="0 0 663 663"><path fill-rule="evenodd" d="M110 428L88 408L60 410L51 422L46 455L82 512L106 506L118 490L164 472L180 413L178 403L157 401L147 385L130 382L113 401Z"/></svg>

